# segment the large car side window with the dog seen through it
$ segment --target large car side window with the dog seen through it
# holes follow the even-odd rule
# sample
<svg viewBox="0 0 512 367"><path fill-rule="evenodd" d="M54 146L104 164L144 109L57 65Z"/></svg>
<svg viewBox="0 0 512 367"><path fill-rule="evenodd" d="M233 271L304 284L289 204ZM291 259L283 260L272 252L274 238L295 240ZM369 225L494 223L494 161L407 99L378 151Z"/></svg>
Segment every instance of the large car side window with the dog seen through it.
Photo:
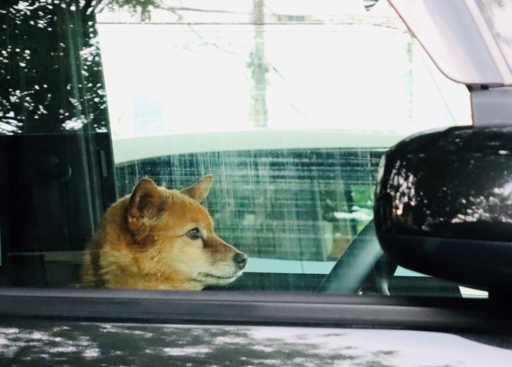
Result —
<svg viewBox="0 0 512 367"><path fill-rule="evenodd" d="M0 6L5 286L318 292L386 149L471 124L385 2L53 3ZM388 266L391 294L460 296Z"/></svg>

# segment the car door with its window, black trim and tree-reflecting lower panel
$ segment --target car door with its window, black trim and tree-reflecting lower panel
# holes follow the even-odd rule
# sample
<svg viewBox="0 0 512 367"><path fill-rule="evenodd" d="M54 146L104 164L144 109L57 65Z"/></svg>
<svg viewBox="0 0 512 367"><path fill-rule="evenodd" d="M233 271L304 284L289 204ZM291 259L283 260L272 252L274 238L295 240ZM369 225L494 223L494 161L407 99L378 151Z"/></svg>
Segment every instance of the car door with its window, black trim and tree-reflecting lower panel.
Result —
<svg viewBox="0 0 512 367"><path fill-rule="evenodd" d="M390 8L274 5L0 6L2 363L506 365L506 305L398 268L372 230L382 153L471 123L467 90ZM113 202L205 174L237 282L80 287Z"/></svg>

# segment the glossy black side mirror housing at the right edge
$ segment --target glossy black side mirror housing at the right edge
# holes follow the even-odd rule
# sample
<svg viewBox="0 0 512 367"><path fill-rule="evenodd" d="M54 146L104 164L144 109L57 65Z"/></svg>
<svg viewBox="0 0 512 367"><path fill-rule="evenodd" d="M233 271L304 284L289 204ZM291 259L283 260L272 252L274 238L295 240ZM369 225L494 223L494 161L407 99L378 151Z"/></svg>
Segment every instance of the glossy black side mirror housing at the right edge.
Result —
<svg viewBox="0 0 512 367"><path fill-rule="evenodd" d="M382 158L374 210L380 245L400 265L510 293L512 127L398 143Z"/></svg>

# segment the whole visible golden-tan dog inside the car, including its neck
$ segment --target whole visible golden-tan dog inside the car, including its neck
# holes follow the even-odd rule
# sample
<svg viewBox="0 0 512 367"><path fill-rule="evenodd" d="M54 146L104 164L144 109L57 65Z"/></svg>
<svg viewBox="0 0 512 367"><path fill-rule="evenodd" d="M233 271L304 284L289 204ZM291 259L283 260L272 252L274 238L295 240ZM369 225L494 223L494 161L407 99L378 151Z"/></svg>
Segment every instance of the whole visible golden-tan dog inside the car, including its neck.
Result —
<svg viewBox="0 0 512 367"><path fill-rule="evenodd" d="M237 279L248 257L215 234L200 204L212 182L207 175L169 190L141 179L105 212L86 246L81 286L202 290Z"/></svg>

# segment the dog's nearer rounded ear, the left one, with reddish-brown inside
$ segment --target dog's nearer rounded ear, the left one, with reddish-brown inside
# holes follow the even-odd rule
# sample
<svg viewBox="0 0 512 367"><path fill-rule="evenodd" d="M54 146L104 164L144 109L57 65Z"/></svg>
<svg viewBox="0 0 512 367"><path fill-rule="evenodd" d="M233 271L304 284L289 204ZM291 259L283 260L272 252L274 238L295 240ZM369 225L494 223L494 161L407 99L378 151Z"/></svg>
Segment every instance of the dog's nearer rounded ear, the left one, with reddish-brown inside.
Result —
<svg viewBox="0 0 512 367"><path fill-rule="evenodd" d="M147 220L151 219L161 207L163 194L158 186L148 178L143 178L135 186L128 204L128 228L134 234L144 232Z"/></svg>

